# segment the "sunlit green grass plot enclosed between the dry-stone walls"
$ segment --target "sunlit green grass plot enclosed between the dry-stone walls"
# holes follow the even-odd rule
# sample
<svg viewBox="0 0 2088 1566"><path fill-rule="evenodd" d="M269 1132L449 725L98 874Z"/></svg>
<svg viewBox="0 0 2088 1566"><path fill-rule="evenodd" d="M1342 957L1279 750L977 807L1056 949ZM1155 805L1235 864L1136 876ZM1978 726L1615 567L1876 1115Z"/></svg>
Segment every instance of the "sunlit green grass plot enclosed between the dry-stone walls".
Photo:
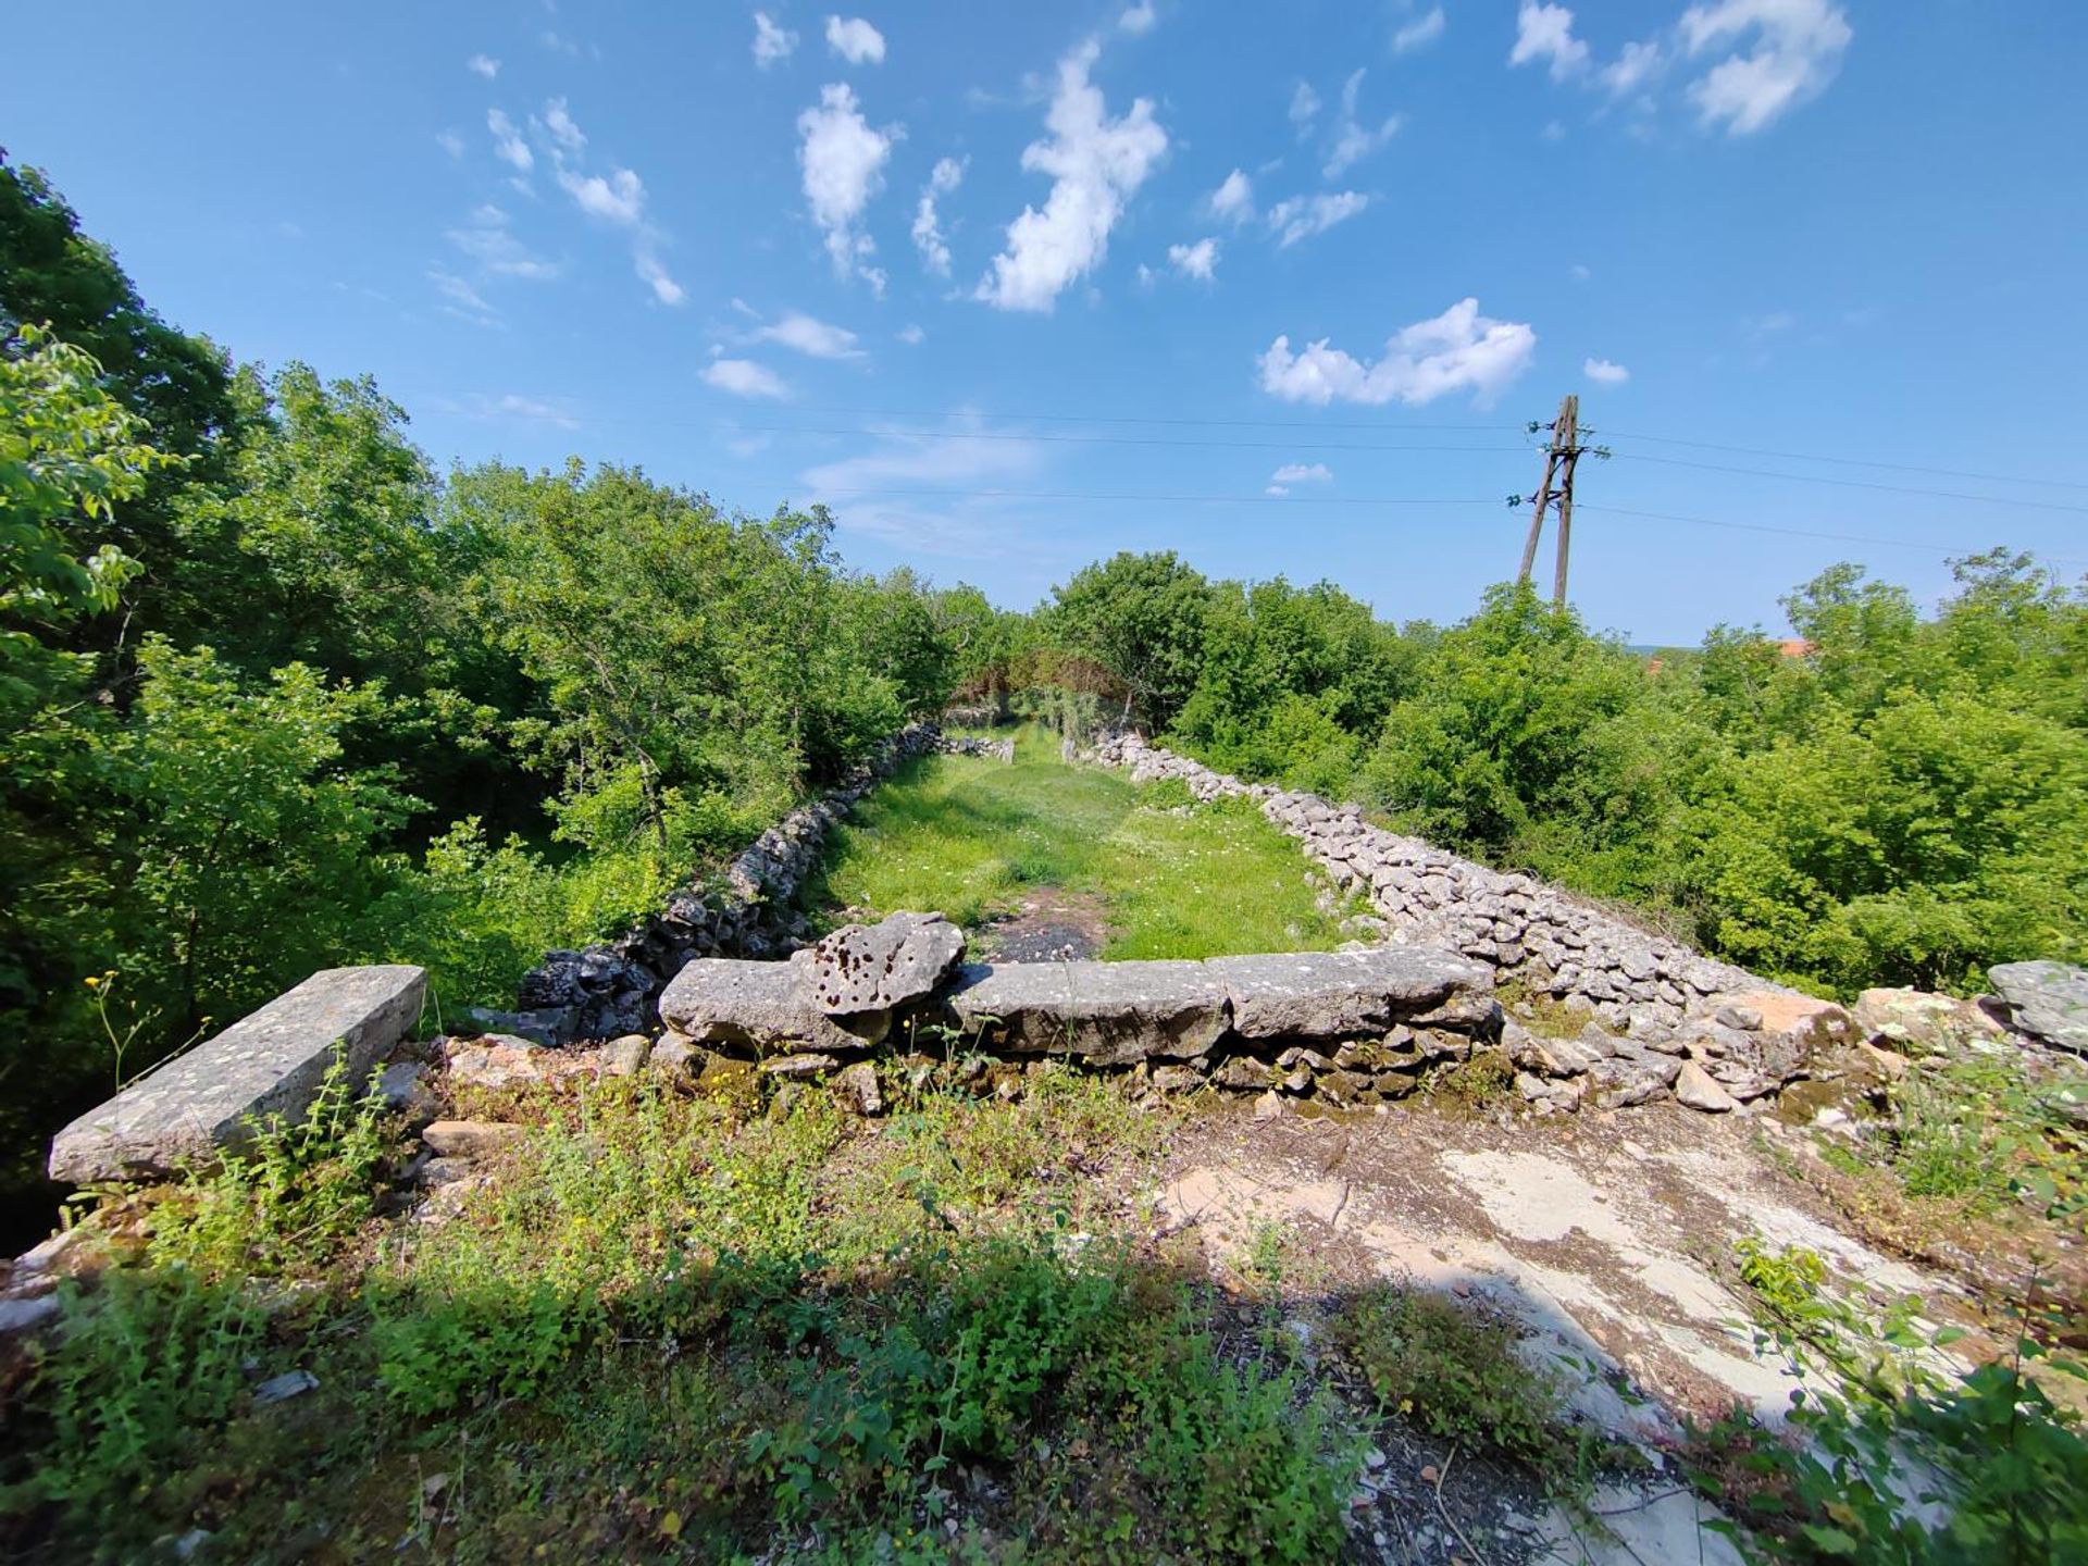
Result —
<svg viewBox="0 0 2088 1566"><path fill-rule="evenodd" d="M1307 860L1242 800L1182 810L1180 789L1067 766L1042 727L1015 764L925 756L873 793L812 879L814 906L933 908L979 927L1025 894L1100 900L1107 958L1338 946Z"/></svg>

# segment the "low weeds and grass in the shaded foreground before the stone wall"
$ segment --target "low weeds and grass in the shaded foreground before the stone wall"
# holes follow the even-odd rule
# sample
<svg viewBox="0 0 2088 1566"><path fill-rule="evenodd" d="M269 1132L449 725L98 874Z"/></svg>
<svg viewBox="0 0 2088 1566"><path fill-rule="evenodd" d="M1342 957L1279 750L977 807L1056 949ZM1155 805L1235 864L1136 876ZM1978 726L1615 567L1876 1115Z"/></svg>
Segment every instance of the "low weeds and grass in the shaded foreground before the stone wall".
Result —
<svg viewBox="0 0 2088 1566"><path fill-rule="evenodd" d="M395 1226L336 1098L125 1209L146 1265L67 1297L0 1526L109 1560L188 1528L342 1562L1336 1553L1349 1418L1130 1238L1113 1178L1161 1121L1059 1067L902 1092L875 1132L821 1096L532 1098L489 1186ZM286 1370L317 1384L257 1401Z"/></svg>

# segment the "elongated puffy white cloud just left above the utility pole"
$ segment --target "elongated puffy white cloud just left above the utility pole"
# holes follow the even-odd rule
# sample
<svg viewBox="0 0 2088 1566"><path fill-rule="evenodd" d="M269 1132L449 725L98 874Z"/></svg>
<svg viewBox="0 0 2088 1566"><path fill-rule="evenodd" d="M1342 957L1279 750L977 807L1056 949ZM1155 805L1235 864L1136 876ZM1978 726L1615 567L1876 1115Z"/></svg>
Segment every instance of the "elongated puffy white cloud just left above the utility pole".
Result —
<svg viewBox="0 0 2088 1566"><path fill-rule="evenodd" d="M1537 332L1520 322L1478 313L1476 299L1462 299L1430 322L1403 326L1376 363L1330 349L1326 338L1290 351L1280 336L1261 355L1261 390L1286 403L1432 403L1470 390L1487 407L1531 367Z"/></svg>

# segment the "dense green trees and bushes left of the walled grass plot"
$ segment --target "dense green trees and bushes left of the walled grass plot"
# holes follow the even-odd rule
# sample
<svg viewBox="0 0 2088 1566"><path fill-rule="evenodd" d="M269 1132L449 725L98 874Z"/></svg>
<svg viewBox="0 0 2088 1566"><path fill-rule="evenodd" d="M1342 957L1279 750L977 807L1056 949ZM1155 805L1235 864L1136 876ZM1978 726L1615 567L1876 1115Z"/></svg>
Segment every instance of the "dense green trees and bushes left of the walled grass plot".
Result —
<svg viewBox="0 0 2088 1566"><path fill-rule="evenodd" d="M505 1002L1004 631L850 572L818 509L578 459L443 478L370 380L161 322L0 159L0 1079L38 1084L0 1094L0 1207L44 1201L115 1042L136 1073L357 958Z"/></svg>

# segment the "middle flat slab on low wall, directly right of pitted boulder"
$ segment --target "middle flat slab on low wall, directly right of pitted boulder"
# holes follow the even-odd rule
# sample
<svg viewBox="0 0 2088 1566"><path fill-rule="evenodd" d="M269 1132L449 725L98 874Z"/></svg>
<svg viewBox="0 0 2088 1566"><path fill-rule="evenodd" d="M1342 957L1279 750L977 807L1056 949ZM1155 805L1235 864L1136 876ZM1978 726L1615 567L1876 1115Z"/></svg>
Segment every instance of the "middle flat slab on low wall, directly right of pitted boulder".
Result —
<svg viewBox="0 0 2088 1566"><path fill-rule="evenodd" d="M1209 963L1017 963L958 969L946 1002L967 1040L1011 1054L1077 1054L1092 1065L1188 1061L1232 1023Z"/></svg>

